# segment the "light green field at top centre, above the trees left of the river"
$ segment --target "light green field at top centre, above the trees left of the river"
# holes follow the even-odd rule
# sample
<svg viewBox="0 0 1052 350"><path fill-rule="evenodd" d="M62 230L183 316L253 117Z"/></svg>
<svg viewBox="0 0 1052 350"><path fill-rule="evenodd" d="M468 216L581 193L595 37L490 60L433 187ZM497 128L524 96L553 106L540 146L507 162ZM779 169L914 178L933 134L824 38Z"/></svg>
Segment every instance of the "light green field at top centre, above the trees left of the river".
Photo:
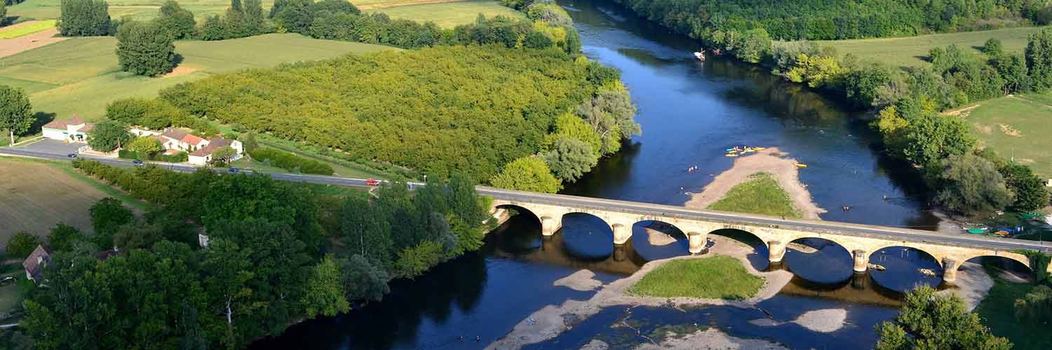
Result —
<svg viewBox="0 0 1052 350"><path fill-rule="evenodd" d="M525 18L520 12L517 12L510 7L502 6L495 1L490 0L472 0L472 1L458 1L458 2L443 2L443 3L431 3L431 4L411 4L411 5L401 5L400 1L352 1L358 4L360 2L368 2L378 5L382 3L397 3L398 6L394 7L384 7L376 9L367 9L368 12L378 12L387 14L394 19L407 19L418 22L431 21L441 27L453 27L458 24L472 23L479 14L483 14L486 17L495 17L498 15L505 17L514 18ZM393 4L392 4L393 5Z"/></svg>

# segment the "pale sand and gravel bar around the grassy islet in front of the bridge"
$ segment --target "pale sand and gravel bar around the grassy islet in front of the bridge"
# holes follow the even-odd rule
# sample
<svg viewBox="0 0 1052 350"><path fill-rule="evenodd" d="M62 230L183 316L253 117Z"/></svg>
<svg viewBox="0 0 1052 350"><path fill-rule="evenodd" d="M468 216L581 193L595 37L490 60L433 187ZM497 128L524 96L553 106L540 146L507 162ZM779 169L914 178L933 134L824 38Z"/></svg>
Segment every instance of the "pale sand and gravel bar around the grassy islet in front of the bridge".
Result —
<svg viewBox="0 0 1052 350"><path fill-rule="evenodd" d="M611 282L610 284L603 286L595 295L587 301L566 301L562 305L549 305L544 307L537 312L533 312L525 320L521 321L515 325L514 329L511 330L504 337L498 339L490 344L487 349L519 349L523 346L544 342L558 336L559 334L569 330L576 323L580 323L589 316L598 313L600 310L611 307L611 306L672 306L672 307L686 307L686 306L703 306L703 305L730 305L743 308L754 307L754 305L764 300L774 296L789 281L792 279L792 273L786 270L775 270L775 271L758 271L752 267L746 258L750 253L754 253L755 250L745 244L737 241L726 239L719 235L710 235L710 239L715 243L714 246L709 248L709 253L701 256L676 256L672 259L652 261L643 265L643 267L630 276ZM745 269L752 273L753 275L763 276L765 280L764 287L761 288L760 292L755 296L745 300L745 301L725 301L725 300L707 300L707 298L692 298L692 297L649 297L649 296L635 296L629 295L625 291L628 287L632 286L640 279L643 279L648 272L661 266L667 262L680 259L704 259L712 256L715 254L733 256L742 262ZM557 282L558 285L563 286L590 286L594 285L595 282L592 279L593 274L575 272L565 279L561 279ZM589 281L590 280L590 281ZM720 338L727 342L744 342L745 339L737 339L725 334L715 334L719 331L705 331L700 332L704 334L691 334L687 337L677 339L675 345L670 345L673 348L690 348L690 349L703 349L705 348L704 342L711 342L713 339ZM679 342L691 342L689 346L682 347ZM703 343L693 343L703 342ZM745 344L739 342L739 347L742 349L751 349L758 344ZM750 341L753 342L753 341ZM768 342L762 342L764 346L769 346L771 348L776 348L776 345L769 344ZM724 348L735 348L735 347L724 347Z"/></svg>

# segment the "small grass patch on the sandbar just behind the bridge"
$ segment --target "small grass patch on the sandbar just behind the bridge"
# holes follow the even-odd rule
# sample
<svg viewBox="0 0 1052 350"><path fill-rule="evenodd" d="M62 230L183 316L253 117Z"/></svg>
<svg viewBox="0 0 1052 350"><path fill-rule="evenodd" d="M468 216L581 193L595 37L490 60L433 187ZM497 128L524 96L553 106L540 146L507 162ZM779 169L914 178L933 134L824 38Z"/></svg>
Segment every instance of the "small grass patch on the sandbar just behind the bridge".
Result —
<svg viewBox="0 0 1052 350"><path fill-rule="evenodd" d="M800 209L789 193L770 173L757 172L735 185L709 209L757 213L773 217L801 218Z"/></svg>

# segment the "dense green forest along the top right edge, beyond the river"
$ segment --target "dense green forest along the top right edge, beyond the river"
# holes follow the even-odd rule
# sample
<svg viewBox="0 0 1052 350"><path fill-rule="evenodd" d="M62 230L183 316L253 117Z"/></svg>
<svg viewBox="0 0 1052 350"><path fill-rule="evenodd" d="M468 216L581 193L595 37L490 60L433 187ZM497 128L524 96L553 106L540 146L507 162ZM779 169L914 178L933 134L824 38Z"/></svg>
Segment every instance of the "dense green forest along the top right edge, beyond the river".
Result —
<svg viewBox="0 0 1052 350"><path fill-rule="evenodd" d="M708 42L765 29L778 40L914 36L1052 21L1037 0L615 0Z"/></svg>

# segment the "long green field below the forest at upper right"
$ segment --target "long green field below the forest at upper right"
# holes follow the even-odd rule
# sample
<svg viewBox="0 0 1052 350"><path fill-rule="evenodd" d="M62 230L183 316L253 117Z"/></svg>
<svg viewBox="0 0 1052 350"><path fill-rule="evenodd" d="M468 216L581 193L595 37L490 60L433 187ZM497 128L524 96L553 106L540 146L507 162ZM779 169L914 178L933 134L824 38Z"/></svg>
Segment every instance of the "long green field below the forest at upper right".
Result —
<svg viewBox="0 0 1052 350"><path fill-rule="evenodd" d="M968 47L979 53L978 47L987 39L1000 39L1006 53L1023 52L1027 47L1027 36L1043 27L1020 27L996 30L965 32L954 34L933 34L908 38L882 38L858 40L818 41L821 45L836 47L841 55L852 54L862 59L872 59L896 67L923 66L932 47L951 44Z"/></svg>

